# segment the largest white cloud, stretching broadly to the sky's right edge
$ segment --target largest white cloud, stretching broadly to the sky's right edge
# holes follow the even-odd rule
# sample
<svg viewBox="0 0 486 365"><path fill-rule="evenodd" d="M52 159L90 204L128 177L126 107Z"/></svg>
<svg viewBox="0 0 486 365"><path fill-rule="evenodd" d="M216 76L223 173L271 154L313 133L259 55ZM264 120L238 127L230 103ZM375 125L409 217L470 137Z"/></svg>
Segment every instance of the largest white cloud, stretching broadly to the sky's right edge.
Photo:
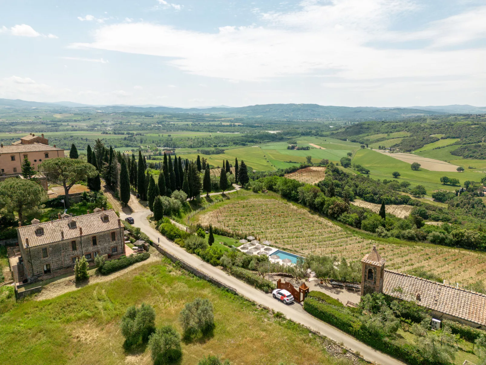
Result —
<svg viewBox="0 0 486 365"><path fill-rule="evenodd" d="M162 56L186 73L232 82L321 76L332 83L406 78L406 84L428 77L457 77L466 85L485 78L485 63L480 61L486 59L484 47L395 46L407 37L421 37L433 45L482 37L483 7L477 17L468 12L431 22L426 31L398 33L389 29L396 17L417 10L411 1L309 0L301 6L299 11L262 14L265 26L224 26L216 33L147 22L114 24L98 29L92 43L70 47ZM454 32L461 29L468 32L454 40Z"/></svg>

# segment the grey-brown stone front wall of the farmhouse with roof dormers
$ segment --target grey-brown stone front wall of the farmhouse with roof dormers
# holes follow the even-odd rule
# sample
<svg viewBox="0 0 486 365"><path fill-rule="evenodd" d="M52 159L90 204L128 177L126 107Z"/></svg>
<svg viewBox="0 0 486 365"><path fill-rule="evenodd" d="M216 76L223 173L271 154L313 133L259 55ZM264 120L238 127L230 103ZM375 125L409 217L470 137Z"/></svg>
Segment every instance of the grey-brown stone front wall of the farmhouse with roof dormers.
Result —
<svg viewBox="0 0 486 365"><path fill-rule="evenodd" d="M124 227L118 227L114 230L100 232L94 235L76 237L75 239L66 239L58 242L53 242L45 245L26 247L19 245L20 253L24 261L24 270L27 273L29 281L39 278L44 275L44 265L51 265L51 273L73 267L73 257L81 258L87 257L88 261L93 261L95 252L98 255L112 254L112 248L116 247L116 253L113 255L121 255L124 253L125 240L123 237ZM111 233L115 232L115 240L111 240ZM96 237L96 245L92 243L92 237ZM76 241L76 250L72 250L72 241ZM42 249L47 249L47 257L42 257Z"/></svg>

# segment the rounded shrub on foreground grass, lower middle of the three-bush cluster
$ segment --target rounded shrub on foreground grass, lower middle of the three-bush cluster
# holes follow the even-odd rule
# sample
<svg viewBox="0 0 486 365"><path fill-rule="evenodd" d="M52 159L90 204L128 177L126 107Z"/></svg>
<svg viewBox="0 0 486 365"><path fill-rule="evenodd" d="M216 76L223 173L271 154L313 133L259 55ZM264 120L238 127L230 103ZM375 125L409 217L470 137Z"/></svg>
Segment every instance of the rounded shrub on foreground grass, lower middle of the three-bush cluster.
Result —
<svg viewBox="0 0 486 365"><path fill-rule="evenodd" d="M182 357L181 337L172 326L156 329L148 344L154 364L167 364Z"/></svg>

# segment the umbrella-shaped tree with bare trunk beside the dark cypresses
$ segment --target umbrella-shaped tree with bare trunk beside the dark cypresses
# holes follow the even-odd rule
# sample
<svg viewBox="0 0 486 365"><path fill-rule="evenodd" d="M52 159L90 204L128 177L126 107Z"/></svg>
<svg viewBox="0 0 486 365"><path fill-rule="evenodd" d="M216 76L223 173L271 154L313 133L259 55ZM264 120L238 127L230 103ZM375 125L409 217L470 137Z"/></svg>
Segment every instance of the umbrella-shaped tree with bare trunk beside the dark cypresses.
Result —
<svg viewBox="0 0 486 365"><path fill-rule="evenodd" d="M64 187L66 208L69 208L69 189L76 183L95 177L98 173L92 164L69 157L44 160L38 168L51 183Z"/></svg>

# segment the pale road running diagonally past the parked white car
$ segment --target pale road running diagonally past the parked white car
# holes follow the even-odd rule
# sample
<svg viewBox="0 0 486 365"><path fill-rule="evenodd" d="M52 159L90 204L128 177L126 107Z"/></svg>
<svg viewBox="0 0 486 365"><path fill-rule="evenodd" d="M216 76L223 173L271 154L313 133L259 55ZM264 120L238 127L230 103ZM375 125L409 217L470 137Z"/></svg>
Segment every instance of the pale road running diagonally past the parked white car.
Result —
<svg viewBox="0 0 486 365"><path fill-rule="evenodd" d="M312 315L303 310L300 304L293 303L291 305L285 305L272 298L271 294L265 294L264 292L261 292L260 290L257 290L236 279L235 277L226 274L224 271L204 262L199 257L189 254L187 251L174 244L166 237L162 236L150 226L148 220L146 219L150 214L150 211L145 209L143 211L132 213L130 216L135 219L134 225L139 227L148 237L150 237L150 239L152 239L154 242L158 242L165 250L173 253L175 256L180 257L193 267L196 267L215 279L225 283L226 285L235 288L239 294L245 296L246 298L260 303L267 308L280 311L285 314L287 318L290 318L297 323L317 331L333 341L338 343L342 342L344 346L351 348L354 351L359 351L361 355L368 361L382 365L404 365L402 362L364 345L355 338L341 332L339 329L336 329L327 323L312 317ZM124 213L120 213L120 215L122 219L127 217Z"/></svg>

